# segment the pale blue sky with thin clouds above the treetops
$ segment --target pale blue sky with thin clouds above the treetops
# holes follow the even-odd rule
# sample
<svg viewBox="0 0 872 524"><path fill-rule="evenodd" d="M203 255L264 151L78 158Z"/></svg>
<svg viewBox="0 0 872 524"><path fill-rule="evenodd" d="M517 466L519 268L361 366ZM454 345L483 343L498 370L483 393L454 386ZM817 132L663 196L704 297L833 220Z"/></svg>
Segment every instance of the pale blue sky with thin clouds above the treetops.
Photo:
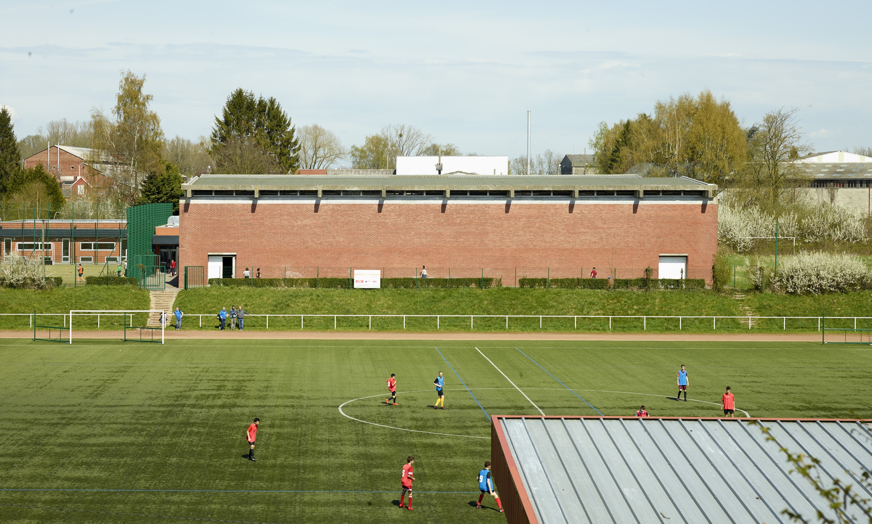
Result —
<svg viewBox="0 0 872 524"><path fill-rule="evenodd" d="M0 3L0 104L19 138L147 75L168 138L236 87L346 146L412 124L462 151L583 152L601 120L709 88L744 124L800 107L817 151L872 146L872 3ZM30 53L30 54L29 54Z"/></svg>

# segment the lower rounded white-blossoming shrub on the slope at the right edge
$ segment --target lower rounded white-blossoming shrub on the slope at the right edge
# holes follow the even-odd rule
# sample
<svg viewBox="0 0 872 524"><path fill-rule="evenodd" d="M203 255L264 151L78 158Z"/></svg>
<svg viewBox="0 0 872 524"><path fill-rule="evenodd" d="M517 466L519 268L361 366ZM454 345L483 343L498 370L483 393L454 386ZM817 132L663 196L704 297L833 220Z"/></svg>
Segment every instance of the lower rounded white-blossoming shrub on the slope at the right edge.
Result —
<svg viewBox="0 0 872 524"><path fill-rule="evenodd" d="M760 271L752 271L760 279ZM855 256L825 252L804 252L779 257L778 272L766 271L766 280L776 291L801 295L844 292L869 287L869 267ZM760 283L761 284L761 283ZM754 287L759 284L753 281Z"/></svg>

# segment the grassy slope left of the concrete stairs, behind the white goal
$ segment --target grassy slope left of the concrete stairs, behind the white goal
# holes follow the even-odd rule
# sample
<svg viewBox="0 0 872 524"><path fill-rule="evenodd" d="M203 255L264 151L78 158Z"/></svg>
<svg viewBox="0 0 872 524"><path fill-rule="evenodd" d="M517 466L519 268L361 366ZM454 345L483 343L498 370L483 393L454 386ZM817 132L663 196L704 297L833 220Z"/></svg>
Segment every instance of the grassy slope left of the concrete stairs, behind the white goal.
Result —
<svg viewBox="0 0 872 524"><path fill-rule="evenodd" d="M55 287L46 291L0 287L0 313L69 313L72 309L148 309L148 292L136 286ZM63 326L37 314L37 324ZM0 329L28 329L30 316L0 315Z"/></svg>

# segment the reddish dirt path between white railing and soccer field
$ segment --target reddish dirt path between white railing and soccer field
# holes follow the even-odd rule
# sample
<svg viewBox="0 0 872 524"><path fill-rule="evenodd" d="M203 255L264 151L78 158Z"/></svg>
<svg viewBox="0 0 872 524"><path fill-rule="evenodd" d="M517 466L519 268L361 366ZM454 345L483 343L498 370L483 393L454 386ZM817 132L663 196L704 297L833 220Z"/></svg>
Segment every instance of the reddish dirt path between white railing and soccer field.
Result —
<svg viewBox="0 0 872 524"><path fill-rule="evenodd" d="M30 339L33 332L0 331L0 339ZM117 334L117 337L115 336ZM121 338L121 332L78 332L73 342L80 339ZM820 334L778 333L406 333L406 332L359 332L359 331L246 331L209 332L180 331L167 329L165 338L170 339L287 339L287 340L663 340L663 341L733 341L733 342L816 342Z"/></svg>

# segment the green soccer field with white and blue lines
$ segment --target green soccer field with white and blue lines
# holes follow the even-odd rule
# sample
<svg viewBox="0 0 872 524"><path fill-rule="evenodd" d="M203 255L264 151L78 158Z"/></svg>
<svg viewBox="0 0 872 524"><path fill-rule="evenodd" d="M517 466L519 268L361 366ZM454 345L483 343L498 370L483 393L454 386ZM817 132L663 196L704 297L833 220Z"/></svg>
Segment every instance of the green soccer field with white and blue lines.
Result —
<svg viewBox="0 0 872 524"><path fill-rule="evenodd" d="M501 522L474 509L487 415L717 416L732 386L755 417L872 418L870 368L807 343L0 339L0 521Z"/></svg>

